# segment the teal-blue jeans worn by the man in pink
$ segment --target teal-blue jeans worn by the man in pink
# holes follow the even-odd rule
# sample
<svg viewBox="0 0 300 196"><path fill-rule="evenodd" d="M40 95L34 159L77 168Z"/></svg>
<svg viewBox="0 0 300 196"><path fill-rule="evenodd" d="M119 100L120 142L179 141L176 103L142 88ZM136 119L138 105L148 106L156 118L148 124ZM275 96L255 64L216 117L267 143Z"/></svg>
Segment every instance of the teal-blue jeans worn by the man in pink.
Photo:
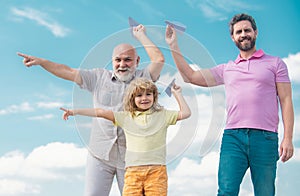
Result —
<svg viewBox="0 0 300 196"><path fill-rule="evenodd" d="M258 129L224 131L219 172L218 196L236 196L250 168L255 196L275 195L278 134Z"/></svg>

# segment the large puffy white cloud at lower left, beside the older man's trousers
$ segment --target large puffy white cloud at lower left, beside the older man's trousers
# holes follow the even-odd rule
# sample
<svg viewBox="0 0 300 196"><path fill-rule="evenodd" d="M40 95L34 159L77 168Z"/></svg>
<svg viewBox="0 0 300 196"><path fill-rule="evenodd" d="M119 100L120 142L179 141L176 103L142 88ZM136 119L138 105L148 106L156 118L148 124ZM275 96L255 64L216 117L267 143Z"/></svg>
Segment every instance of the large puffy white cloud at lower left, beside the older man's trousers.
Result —
<svg viewBox="0 0 300 196"><path fill-rule="evenodd" d="M0 157L0 176L35 179L64 179L68 172L85 166L87 150L73 143L49 143L34 149L28 156L13 151Z"/></svg>

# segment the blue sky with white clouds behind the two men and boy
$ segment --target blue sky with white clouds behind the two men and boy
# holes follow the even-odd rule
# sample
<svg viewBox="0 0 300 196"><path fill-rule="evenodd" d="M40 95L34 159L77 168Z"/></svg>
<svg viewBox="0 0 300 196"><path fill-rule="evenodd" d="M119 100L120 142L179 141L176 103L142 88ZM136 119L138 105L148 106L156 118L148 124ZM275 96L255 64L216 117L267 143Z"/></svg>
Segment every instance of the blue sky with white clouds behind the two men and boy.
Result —
<svg viewBox="0 0 300 196"><path fill-rule="evenodd" d="M214 195L220 133L214 133L216 137L209 140L210 145L201 156L199 150L207 142L204 138L214 120L217 119L216 124L222 123L222 112L220 118L212 115L212 108L219 109L218 104L222 111L222 93L218 93L222 89L216 89L215 93L215 89L182 83L162 37L164 21L179 21L187 26L186 33L179 35L179 41L183 48L186 47L183 51L190 52L186 55L193 62L202 57L195 56L195 44L205 49L211 62L218 64L234 59L238 54L227 24L239 12L249 13L256 19L257 48L283 58L289 67L295 106L295 155L287 163L278 163L276 191L279 196L297 195L300 183L299 172L296 172L300 169L299 8L297 0L1 0L0 195L79 196L84 188L85 134L88 135L90 119L64 122L58 108L72 106L73 100L78 104L78 95L84 97L85 94L71 82L58 79L40 67L26 68L16 52L74 68L85 68L89 58L96 57L92 61L95 65L89 66L104 67L106 64L100 65L101 62L109 62L107 58L110 57L101 55L105 51L109 54L109 47L113 47L105 44L126 37L129 16L146 26L149 37L166 56L167 65L160 84L164 86L171 77L178 78L187 92L190 106L196 111L187 121L189 123L170 128L177 135L170 134L169 141L181 143L182 148L179 154L171 156L168 164L169 194ZM130 35L126 41L138 45ZM106 47L103 54L95 53ZM142 62L149 61L142 49L138 52ZM87 103L88 100L87 96L84 101ZM170 102L166 96L161 97L161 102L167 107L176 107L174 100ZM184 142L177 141L178 130L185 126L190 132L186 133L188 139L182 144ZM282 137L282 123L279 132ZM119 195L115 183L111 195ZM248 174L241 186L241 195L253 195Z"/></svg>

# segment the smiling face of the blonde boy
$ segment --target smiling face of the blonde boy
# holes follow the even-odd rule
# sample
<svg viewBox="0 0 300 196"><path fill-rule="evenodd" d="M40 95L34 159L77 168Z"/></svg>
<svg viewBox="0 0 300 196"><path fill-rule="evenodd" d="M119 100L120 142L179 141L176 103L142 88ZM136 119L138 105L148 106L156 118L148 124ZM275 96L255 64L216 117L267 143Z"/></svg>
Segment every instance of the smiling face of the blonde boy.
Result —
<svg viewBox="0 0 300 196"><path fill-rule="evenodd" d="M134 98L134 103L138 111L146 111L153 106L154 94L151 91L138 92Z"/></svg>

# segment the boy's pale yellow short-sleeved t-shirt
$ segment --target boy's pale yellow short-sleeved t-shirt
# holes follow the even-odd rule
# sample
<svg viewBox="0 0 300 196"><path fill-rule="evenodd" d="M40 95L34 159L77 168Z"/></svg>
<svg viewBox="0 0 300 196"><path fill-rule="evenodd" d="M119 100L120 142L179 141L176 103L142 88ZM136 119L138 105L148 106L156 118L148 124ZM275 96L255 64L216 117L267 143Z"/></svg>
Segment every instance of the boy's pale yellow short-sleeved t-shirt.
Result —
<svg viewBox="0 0 300 196"><path fill-rule="evenodd" d="M166 164L166 136L169 125L177 122L178 111L162 109L145 112L114 112L115 125L126 136L126 167Z"/></svg>

